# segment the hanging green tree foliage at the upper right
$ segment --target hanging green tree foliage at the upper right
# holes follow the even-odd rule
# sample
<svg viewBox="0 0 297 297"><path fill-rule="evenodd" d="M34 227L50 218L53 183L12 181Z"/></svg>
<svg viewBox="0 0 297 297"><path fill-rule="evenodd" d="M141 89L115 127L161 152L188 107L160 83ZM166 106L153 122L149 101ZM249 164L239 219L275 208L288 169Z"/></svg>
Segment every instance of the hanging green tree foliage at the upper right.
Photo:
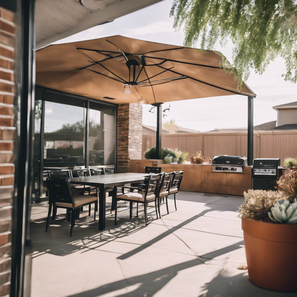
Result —
<svg viewBox="0 0 297 297"><path fill-rule="evenodd" d="M233 64L221 54L221 66L238 79L238 90L250 69L262 74L277 56L285 59L287 81L297 80L297 5L294 0L174 0L174 28L184 24L184 45L213 50L216 41L231 40Z"/></svg>

